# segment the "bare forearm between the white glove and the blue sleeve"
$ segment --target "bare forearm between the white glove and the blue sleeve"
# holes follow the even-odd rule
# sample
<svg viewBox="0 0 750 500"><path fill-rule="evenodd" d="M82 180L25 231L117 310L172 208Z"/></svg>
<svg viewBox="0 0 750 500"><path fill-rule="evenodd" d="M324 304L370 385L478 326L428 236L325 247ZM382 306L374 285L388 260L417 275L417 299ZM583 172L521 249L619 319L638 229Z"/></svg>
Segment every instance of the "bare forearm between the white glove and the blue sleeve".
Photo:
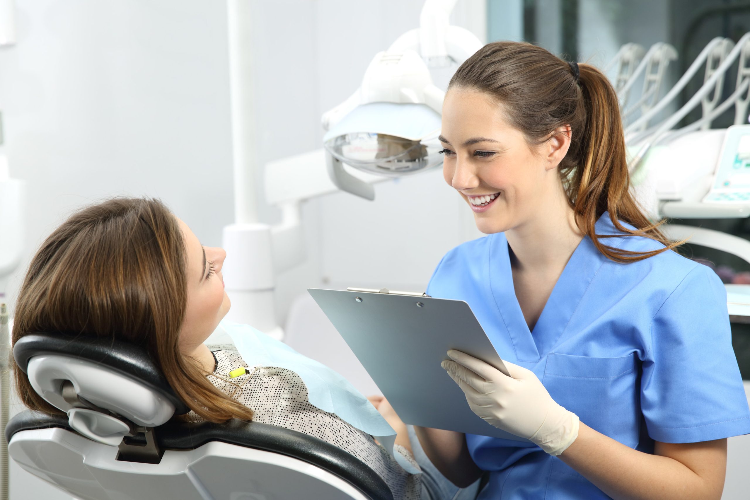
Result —
<svg viewBox="0 0 750 500"><path fill-rule="evenodd" d="M578 437L559 459L615 500L718 500L724 486L726 440L665 445L674 458L647 454L580 423ZM692 459L692 460L690 460Z"/></svg>

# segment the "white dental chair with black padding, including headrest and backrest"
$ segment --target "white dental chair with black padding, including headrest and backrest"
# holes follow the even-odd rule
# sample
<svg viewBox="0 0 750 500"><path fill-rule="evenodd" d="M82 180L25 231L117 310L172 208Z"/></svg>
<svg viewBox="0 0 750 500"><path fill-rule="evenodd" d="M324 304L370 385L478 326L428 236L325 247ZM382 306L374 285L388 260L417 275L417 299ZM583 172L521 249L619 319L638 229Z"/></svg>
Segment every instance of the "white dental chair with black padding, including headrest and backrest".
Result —
<svg viewBox="0 0 750 500"><path fill-rule="evenodd" d="M10 457L80 500L393 500L334 445L258 422L193 424L145 350L31 334L13 357L67 415L26 411L5 428Z"/></svg>

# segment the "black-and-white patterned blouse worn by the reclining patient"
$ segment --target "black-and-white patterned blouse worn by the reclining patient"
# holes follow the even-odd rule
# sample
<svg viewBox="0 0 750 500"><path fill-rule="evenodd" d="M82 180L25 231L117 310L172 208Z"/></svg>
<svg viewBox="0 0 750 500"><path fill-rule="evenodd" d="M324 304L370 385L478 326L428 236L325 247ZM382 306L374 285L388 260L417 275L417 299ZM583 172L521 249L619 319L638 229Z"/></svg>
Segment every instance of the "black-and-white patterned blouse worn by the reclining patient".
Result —
<svg viewBox="0 0 750 500"><path fill-rule="evenodd" d="M279 367L248 367L239 352L229 349L214 351L214 358L216 369L208 379L223 394L251 408L253 421L296 430L338 446L377 472L391 488L394 500L420 499L422 475L404 471L369 434L311 405L308 388L299 375ZM246 367L249 373L230 378L229 372L239 367ZM186 417L192 422L202 421L195 412ZM396 445L395 452L419 469L406 448Z"/></svg>

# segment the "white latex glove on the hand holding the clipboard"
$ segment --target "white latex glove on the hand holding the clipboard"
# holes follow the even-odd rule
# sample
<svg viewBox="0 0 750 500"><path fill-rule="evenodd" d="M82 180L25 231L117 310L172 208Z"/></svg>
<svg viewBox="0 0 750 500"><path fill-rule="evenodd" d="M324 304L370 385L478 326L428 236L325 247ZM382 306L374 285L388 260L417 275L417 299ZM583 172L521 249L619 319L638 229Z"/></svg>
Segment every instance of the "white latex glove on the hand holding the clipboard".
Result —
<svg viewBox="0 0 750 500"><path fill-rule="evenodd" d="M548 454L565 451L578 437L578 416L559 406L531 370L503 361L511 376L484 361L450 350L440 364L476 415L498 429L529 439Z"/></svg>

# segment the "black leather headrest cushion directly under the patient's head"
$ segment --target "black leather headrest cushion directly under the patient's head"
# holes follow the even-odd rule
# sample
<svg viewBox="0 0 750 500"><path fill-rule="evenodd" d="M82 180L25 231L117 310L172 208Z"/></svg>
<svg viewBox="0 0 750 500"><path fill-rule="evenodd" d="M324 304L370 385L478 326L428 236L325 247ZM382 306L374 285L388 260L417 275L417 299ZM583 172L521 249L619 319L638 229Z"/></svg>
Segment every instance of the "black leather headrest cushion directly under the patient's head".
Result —
<svg viewBox="0 0 750 500"><path fill-rule="evenodd" d="M71 356L105 365L162 394L175 406L176 415L190 412L187 405L172 390L169 382L166 382L166 377L145 349L139 346L102 337L86 335L73 337L61 333L24 335L13 346L13 358L24 373L26 373L28 361L42 354Z"/></svg>

